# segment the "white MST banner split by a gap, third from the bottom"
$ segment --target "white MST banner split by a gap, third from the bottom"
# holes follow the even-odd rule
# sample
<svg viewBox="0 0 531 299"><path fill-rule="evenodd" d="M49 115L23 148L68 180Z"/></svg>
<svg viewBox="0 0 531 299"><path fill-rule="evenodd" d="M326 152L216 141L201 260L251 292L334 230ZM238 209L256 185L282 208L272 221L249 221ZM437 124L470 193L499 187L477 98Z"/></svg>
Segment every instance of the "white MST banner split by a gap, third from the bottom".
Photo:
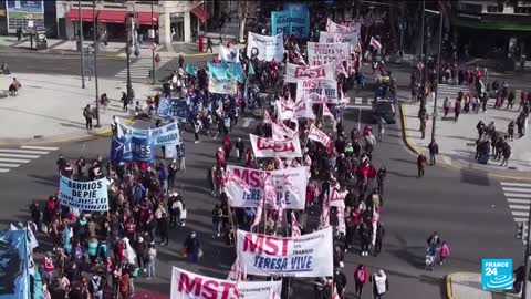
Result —
<svg viewBox="0 0 531 299"><path fill-rule="evenodd" d="M258 207L267 184L274 186L277 205L282 198L285 208L304 209L308 185L308 168L285 168L264 172L240 166L227 166L227 193L232 207ZM268 182L266 182L268 181Z"/></svg>

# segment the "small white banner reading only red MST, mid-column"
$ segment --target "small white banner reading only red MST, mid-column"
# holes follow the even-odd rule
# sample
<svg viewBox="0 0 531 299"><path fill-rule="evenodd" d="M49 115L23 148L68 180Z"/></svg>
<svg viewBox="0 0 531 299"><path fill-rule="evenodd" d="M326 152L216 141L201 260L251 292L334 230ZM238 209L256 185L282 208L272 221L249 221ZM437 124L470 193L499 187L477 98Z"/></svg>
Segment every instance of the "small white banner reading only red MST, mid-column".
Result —
<svg viewBox="0 0 531 299"><path fill-rule="evenodd" d="M252 152L254 157L279 157L279 158L295 158L302 157L301 143L299 134L293 138L283 141L275 141L272 138L264 138L257 135L250 135Z"/></svg>

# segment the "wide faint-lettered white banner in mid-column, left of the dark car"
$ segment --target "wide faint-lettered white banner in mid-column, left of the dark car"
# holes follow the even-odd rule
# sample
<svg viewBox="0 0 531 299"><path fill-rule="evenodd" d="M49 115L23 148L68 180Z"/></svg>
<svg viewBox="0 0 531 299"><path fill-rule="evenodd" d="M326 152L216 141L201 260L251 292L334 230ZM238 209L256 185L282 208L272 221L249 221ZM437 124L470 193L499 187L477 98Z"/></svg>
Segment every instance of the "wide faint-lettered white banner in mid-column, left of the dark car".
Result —
<svg viewBox="0 0 531 299"><path fill-rule="evenodd" d="M337 97L337 82L329 80L303 80L296 83L296 102L309 100L313 104L321 103L324 91L326 104L336 104L340 102Z"/></svg>

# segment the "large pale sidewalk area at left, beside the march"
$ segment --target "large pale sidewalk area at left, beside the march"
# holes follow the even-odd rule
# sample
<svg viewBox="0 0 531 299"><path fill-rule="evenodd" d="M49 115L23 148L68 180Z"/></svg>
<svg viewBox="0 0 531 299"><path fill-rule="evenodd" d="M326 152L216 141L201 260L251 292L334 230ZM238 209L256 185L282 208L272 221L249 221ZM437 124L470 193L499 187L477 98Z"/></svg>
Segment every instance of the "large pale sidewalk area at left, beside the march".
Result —
<svg viewBox="0 0 531 299"><path fill-rule="evenodd" d="M85 81L81 89L81 79L67 75L17 73L22 84L18 96L0 99L0 120L4 124L0 130L0 144L54 143L91 137L110 132L113 115L131 118L129 112L122 111L119 99L125 84L121 80L98 80L100 94L107 93L111 103L107 110L101 109L101 128L85 130L83 109L86 104L95 106L94 80ZM11 76L10 76L11 78ZM8 83L2 86L6 89ZM140 103L154 95L155 86L134 83L133 89ZM93 125L96 120L93 120Z"/></svg>

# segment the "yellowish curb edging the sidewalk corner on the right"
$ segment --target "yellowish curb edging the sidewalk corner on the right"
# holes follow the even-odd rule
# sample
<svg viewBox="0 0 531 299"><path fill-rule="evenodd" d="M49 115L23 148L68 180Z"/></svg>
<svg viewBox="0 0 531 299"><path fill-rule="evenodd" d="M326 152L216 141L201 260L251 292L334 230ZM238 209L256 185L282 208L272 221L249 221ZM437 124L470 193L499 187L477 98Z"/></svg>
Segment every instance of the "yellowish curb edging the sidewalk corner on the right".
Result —
<svg viewBox="0 0 531 299"><path fill-rule="evenodd" d="M407 120L406 118L407 118L406 114L404 113L404 104L400 104L400 120L402 120L403 140L406 144L406 147L410 152L413 152L414 154L416 154L418 156L420 154L420 151L418 150L418 147L413 145L413 143L409 141L409 136L407 134ZM487 176L494 177L494 178L531 182L531 177L528 176L528 175L522 175L522 176L501 175L501 174L496 174L496 173L488 172L488 171L480 171L480 169L473 169L473 168L469 168L469 167L461 166L461 165L455 165L454 163L451 163L452 158L450 158L446 155L442 155L442 154L439 154L439 157L441 157L441 158L438 159L437 166L442 166L442 167L448 168L448 169L454 169L454 171L462 171L464 169L464 171L467 171L467 172L470 172L470 173L482 174L482 175L487 175ZM458 164L458 163L456 163L456 164Z"/></svg>

